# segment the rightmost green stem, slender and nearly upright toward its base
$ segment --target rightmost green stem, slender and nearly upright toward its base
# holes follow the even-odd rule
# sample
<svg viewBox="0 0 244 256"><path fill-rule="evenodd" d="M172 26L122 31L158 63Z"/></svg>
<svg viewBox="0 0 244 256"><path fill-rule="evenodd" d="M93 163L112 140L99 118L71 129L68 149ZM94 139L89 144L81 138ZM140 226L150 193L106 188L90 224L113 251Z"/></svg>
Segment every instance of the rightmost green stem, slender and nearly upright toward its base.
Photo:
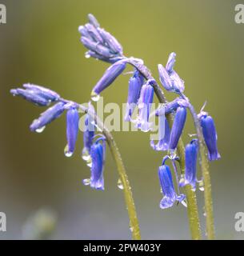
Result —
<svg viewBox="0 0 244 256"><path fill-rule="evenodd" d="M182 98L184 98L189 106L190 114L194 119L194 126L196 128L197 136L198 136L198 145L199 145L199 153L200 153L200 166L202 168L202 177L204 182L204 201L205 201L205 212L206 212L206 235L207 238L212 240L214 239L214 212L213 212L213 200L212 200L212 192L211 192L211 181L210 181L210 166L209 160L207 158L207 151L204 142L204 138L202 135L202 128L200 126L200 122L198 120L198 115L194 110L194 106L192 106L186 98L184 94L181 94Z"/></svg>

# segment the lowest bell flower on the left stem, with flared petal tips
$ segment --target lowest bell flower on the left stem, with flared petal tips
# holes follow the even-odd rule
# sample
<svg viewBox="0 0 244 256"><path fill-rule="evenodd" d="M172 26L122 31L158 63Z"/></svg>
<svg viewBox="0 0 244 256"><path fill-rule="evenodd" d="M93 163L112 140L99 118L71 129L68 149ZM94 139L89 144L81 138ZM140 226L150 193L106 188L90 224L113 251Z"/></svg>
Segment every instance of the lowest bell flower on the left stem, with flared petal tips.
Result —
<svg viewBox="0 0 244 256"><path fill-rule="evenodd" d="M100 143L102 142L102 143ZM106 141L104 137L98 138L90 148L91 168L90 179L83 181L84 185L90 185L96 190L104 190L103 169L105 162Z"/></svg>

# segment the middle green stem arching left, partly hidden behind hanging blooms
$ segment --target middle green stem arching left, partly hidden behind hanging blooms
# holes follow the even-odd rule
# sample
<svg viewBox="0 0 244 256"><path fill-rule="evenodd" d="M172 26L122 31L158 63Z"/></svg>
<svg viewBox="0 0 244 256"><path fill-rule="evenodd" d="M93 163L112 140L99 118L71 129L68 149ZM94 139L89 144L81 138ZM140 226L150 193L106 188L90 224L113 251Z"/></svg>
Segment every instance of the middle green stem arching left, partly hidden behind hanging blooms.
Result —
<svg viewBox="0 0 244 256"><path fill-rule="evenodd" d="M128 63L136 67L147 80L154 79L152 74L150 73L150 70L142 62L140 61L138 62L138 59L128 58ZM158 98L158 102L166 103L166 97L163 94L161 88L158 86L157 82L154 82L154 92ZM170 126L172 126L173 119L174 119L173 114L167 114L166 118L170 123ZM184 147L182 138L179 139L177 150L178 150L178 157L179 157L181 172L182 174L184 174L185 147ZM202 235L201 235L196 194L193 190L191 190L191 187L189 185L186 186L185 193L186 193L186 200L187 200L187 215L188 215L188 221L190 226L191 238L194 240L199 240L202 238Z"/></svg>

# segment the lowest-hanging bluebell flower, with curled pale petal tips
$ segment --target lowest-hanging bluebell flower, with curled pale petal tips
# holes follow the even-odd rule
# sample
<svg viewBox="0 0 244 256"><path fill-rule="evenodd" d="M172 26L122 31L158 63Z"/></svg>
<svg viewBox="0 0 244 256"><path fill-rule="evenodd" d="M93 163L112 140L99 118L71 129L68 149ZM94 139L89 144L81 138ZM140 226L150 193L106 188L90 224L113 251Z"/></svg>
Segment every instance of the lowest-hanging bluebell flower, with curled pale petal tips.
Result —
<svg viewBox="0 0 244 256"><path fill-rule="evenodd" d="M186 196L184 194L177 195L174 190L174 183L170 172L170 167L164 163L158 169L158 177L162 187L164 197L160 202L160 208L166 209L174 205L175 201L182 202Z"/></svg>

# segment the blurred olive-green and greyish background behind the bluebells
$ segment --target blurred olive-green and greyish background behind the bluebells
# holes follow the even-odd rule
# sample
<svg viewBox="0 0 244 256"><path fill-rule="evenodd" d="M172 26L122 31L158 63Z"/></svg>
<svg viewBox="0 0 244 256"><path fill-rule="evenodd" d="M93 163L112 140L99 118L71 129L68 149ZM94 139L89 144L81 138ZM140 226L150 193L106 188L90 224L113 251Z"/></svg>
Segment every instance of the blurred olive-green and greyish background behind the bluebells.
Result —
<svg viewBox="0 0 244 256"><path fill-rule="evenodd" d="M178 54L176 69L197 110L206 110L218 129L221 161L211 163L216 235L242 239L234 230L234 214L244 211L243 96L244 24L234 22L234 6L242 1L215 0L1 0L7 23L0 25L1 119L0 211L6 213L2 239L22 238L26 218L42 207L58 214L51 238L130 238L123 194L110 153L104 192L82 185L89 170L80 158L82 134L73 158L65 158L63 116L42 134L30 122L42 111L9 91L24 82L57 90L65 98L87 102L90 90L108 66L84 58L78 26L94 14L118 38L128 56L143 58L158 78L157 64ZM103 94L106 102L126 101L128 76ZM167 95L168 96L168 95ZM168 96L172 98L172 95ZM194 133L190 115L187 133ZM138 218L145 239L189 239L186 208L160 210L158 166L162 153L151 150L149 134L115 132L126 163ZM199 212L204 228L202 192Z"/></svg>

